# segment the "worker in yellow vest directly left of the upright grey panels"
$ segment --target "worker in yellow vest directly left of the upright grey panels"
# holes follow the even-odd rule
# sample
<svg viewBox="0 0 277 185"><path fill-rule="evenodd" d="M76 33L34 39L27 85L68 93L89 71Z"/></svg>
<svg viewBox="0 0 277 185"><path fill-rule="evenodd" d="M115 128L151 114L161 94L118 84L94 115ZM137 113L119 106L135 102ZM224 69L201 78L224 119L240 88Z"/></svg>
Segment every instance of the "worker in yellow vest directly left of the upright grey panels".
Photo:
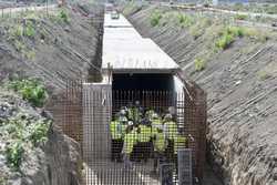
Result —
<svg viewBox="0 0 277 185"><path fill-rule="evenodd" d="M156 174L158 171L158 164L163 163L165 157L166 140L163 133L162 125L154 125L152 129L153 146L154 146L154 169L153 173Z"/></svg>

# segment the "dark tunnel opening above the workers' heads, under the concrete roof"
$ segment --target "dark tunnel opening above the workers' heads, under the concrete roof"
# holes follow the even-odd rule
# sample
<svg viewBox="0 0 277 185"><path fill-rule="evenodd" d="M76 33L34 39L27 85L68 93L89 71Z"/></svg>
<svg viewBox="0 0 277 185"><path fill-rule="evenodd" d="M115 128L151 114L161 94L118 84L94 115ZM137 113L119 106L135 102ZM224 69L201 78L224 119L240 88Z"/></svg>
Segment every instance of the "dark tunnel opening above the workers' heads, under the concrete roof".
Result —
<svg viewBox="0 0 277 185"><path fill-rule="evenodd" d="M175 105L172 74L113 74L113 113L135 101L147 109L166 112Z"/></svg>

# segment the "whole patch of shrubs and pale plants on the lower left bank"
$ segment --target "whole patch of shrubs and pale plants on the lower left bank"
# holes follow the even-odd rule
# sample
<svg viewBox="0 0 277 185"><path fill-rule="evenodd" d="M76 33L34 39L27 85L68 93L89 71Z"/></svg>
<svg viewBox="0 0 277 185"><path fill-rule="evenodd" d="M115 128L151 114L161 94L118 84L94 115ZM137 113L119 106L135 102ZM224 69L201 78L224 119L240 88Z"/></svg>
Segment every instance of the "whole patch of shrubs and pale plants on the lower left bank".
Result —
<svg viewBox="0 0 277 185"><path fill-rule="evenodd" d="M35 155L33 152L48 141L52 120L35 109L43 106L45 99L45 88L38 80L12 80L1 84L0 184L9 184L14 172L21 173L27 156Z"/></svg>

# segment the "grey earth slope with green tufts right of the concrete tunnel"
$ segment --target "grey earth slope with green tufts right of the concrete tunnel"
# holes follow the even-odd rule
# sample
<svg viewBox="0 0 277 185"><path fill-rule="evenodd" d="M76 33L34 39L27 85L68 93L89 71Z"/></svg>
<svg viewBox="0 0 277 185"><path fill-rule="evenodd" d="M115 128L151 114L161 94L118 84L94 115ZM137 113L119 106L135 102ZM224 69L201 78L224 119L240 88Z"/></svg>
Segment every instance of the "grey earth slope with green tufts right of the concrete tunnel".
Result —
<svg viewBox="0 0 277 185"><path fill-rule="evenodd" d="M207 156L224 184L277 184L276 34L192 11L124 13L207 92Z"/></svg>

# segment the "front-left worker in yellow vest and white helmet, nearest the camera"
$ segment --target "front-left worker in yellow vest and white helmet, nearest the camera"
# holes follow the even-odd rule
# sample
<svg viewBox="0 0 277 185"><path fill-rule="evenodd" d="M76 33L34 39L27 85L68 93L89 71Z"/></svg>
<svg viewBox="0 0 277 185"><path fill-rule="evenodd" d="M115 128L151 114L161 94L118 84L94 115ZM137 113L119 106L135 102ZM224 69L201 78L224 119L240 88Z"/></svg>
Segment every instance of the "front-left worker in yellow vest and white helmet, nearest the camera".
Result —
<svg viewBox="0 0 277 185"><path fill-rule="evenodd" d="M124 158L124 165L126 168L132 167L132 153L134 145L137 142L137 131L133 125L132 121L129 121L129 125L126 127L126 133L124 135L124 145L123 145L123 158Z"/></svg>

